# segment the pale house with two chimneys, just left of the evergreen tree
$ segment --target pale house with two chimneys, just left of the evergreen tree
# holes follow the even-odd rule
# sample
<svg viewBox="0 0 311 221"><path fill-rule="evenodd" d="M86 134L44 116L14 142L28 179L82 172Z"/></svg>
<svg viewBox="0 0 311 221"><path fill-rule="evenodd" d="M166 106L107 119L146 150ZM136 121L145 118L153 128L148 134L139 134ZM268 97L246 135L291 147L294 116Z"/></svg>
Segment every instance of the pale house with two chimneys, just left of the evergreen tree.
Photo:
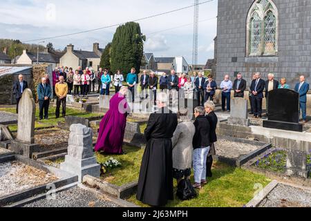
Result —
<svg viewBox="0 0 311 221"><path fill-rule="evenodd" d="M97 71L100 67L100 57L103 49L98 44L93 45L93 51L74 50L73 44L69 44L66 53L60 58L60 66L71 67L75 70L78 66L83 69L86 67L93 68Z"/></svg>

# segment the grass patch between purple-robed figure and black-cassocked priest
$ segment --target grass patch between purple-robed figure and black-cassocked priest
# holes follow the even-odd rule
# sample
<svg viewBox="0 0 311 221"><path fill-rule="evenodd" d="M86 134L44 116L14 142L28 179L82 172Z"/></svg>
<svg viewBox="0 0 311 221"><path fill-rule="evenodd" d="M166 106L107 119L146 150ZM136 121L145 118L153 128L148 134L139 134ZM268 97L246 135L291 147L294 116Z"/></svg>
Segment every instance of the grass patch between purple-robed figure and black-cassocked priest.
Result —
<svg viewBox="0 0 311 221"><path fill-rule="evenodd" d="M103 180L117 186L138 180L142 155L144 153L144 150L133 146L124 146L123 150L126 152L125 155L95 153L99 164L106 162L110 157L115 158L115 160L121 163L120 167L107 171L107 173L102 175Z"/></svg>

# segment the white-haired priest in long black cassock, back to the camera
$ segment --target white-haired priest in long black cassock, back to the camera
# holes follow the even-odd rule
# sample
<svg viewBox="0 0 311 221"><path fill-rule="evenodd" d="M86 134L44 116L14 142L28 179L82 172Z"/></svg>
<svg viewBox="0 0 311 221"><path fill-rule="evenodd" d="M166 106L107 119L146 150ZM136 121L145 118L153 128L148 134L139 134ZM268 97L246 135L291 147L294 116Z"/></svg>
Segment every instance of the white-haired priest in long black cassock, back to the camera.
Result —
<svg viewBox="0 0 311 221"><path fill-rule="evenodd" d="M177 114L167 108L169 97L157 96L159 111L152 113L144 137L147 147L142 157L137 199L150 206L164 206L173 200L173 160L171 137L176 130Z"/></svg>

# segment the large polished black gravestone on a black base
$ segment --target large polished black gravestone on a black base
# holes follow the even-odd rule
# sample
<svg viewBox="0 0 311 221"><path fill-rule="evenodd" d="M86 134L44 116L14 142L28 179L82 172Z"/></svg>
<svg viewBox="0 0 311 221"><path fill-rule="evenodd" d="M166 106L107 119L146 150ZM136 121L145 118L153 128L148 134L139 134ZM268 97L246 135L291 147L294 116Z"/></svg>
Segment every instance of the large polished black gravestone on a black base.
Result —
<svg viewBox="0 0 311 221"><path fill-rule="evenodd" d="M263 127L285 131L303 131L299 124L299 93L290 89L276 89L269 92L268 120Z"/></svg>

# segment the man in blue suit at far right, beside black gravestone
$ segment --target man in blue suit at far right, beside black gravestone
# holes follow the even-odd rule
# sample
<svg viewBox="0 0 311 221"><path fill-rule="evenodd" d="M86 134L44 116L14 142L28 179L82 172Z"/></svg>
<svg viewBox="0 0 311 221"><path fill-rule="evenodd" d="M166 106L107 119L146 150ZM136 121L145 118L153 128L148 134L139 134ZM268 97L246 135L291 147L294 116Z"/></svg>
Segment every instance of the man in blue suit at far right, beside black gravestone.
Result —
<svg viewBox="0 0 311 221"><path fill-rule="evenodd" d="M295 86L295 91L299 93L299 115L300 111L302 112L303 124L307 121L307 93L310 89L310 86L305 82L305 76L301 75L299 77L299 83Z"/></svg>

